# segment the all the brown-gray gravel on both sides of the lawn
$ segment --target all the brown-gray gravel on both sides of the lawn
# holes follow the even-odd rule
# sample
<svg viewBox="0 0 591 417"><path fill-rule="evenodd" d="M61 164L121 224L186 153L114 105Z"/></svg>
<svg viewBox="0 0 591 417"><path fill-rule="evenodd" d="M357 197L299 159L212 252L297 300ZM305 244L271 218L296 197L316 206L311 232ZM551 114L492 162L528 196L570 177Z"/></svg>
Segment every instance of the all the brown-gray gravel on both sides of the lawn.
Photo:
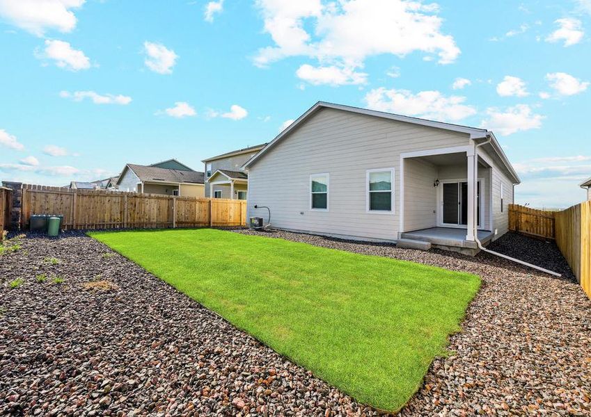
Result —
<svg viewBox="0 0 591 417"><path fill-rule="evenodd" d="M563 279L489 254L237 232L482 277L450 356L402 415L591 413L591 301L553 243L493 245ZM81 233L20 246L0 257L0 414L377 415Z"/></svg>

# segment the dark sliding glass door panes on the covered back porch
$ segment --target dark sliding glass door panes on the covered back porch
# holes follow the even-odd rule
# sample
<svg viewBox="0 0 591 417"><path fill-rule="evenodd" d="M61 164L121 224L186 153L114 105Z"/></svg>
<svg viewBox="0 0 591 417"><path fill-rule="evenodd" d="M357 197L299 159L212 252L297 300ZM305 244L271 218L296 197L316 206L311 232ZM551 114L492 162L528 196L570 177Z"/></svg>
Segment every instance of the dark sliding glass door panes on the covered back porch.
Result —
<svg viewBox="0 0 591 417"><path fill-rule="evenodd" d="M468 224L468 182L444 182L442 185L443 224L465 226ZM476 202L477 221L480 226L480 181L477 186Z"/></svg>

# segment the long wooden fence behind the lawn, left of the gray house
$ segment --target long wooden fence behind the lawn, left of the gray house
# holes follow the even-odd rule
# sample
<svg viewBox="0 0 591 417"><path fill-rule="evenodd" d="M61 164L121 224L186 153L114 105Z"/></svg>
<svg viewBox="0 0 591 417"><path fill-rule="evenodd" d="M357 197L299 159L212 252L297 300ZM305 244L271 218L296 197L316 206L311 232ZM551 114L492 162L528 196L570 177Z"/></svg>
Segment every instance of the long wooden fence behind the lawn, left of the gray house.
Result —
<svg viewBox="0 0 591 417"><path fill-rule="evenodd" d="M23 229L34 214L63 215L64 229L243 226L246 201L23 184Z"/></svg>

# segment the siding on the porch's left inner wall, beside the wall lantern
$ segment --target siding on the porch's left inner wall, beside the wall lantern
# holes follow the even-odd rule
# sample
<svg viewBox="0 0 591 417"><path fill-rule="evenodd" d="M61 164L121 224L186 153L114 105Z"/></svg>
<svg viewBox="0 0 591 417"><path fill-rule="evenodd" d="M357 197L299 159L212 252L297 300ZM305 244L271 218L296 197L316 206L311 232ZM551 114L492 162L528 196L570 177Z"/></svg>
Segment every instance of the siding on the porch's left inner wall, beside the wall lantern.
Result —
<svg viewBox="0 0 591 417"><path fill-rule="evenodd" d="M404 161L404 228L427 229L437 225L436 165L420 158Z"/></svg>

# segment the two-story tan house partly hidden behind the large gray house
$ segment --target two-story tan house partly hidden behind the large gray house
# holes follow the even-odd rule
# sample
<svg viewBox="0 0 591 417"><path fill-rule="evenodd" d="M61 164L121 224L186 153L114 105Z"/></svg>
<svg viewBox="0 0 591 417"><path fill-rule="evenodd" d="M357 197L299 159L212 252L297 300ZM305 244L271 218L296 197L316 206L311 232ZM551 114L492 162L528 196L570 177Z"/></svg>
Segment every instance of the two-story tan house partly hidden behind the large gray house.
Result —
<svg viewBox="0 0 591 417"><path fill-rule="evenodd" d="M246 199L249 176L242 165L265 145L263 143L204 159L205 197Z"/></svg>

